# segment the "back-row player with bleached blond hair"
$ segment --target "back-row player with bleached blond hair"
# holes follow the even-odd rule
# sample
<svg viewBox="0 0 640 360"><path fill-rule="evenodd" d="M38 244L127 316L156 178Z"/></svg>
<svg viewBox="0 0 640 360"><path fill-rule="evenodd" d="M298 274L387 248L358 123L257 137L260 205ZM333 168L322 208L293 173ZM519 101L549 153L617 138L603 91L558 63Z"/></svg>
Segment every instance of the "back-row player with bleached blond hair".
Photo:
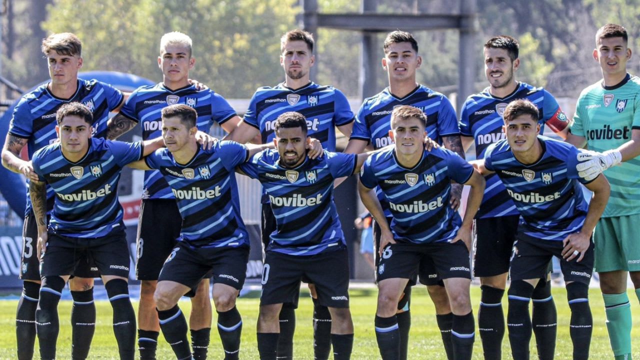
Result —
<svg viewBox="0 0 640 360"><path fill-rule="evenodd" d="M122 110L111 122L120 129L119 136L140 122L142 138L147 140L161 135L161 110L172 104L187 104L196 110L198 129L205 133L214 122L231 131L240 121L228 102L209 88L198 90L189 83L189 69L195 66L191 53L191 38L179 32L166 33L160 40L158 67L163 72L163 82L153 86L141 86L135 90ZM157 338L160 331L154 292L158 275L167 256L180 236L180 211L175 196L158 170L145 172L144 191L138 224L138 250L136 277L141 280L138 307L138 346L143 360L155 359ZM207 356L211 332L211 300L209 279L191 298L191 343L193 356Z"/></svg>

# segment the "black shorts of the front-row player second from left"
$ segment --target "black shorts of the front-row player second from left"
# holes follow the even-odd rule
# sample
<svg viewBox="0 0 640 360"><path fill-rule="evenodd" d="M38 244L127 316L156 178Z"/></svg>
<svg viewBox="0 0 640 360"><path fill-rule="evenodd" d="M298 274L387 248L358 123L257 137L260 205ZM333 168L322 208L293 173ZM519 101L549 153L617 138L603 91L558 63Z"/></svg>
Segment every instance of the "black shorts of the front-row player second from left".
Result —
<svg viewBox="0 0 640 360"><path fill-rule="evenodd" d="M248 247L192 248L178 241L166 259L158 281L179 282L195 291L200 280L212 274L212 282L241 290L246 278Z"/></svg>

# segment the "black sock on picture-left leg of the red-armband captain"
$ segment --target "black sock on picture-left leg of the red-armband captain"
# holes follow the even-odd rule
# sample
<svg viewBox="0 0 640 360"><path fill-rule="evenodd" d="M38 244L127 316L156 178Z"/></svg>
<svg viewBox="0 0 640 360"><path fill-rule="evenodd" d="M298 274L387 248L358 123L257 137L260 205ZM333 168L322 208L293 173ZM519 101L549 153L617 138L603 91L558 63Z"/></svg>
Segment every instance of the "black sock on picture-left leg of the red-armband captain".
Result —
<svg viewBox="0 0 640 360"><path fill-rule="evenodd" d="M504 338L504 312L502 295L504 290L492 286L480 286L482 291L478 309L478 330L482 340L484 359L502 358L502 339Z"/></svg>

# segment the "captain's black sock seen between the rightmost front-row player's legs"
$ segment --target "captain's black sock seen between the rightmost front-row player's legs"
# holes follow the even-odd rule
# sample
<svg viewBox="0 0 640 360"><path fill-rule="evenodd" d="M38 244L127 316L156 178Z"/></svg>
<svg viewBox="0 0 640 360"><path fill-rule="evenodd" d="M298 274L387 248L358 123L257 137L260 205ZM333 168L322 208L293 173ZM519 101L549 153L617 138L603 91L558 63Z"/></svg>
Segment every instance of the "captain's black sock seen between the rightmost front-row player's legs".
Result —
<svg viewBox="0 0 640 360"><path fill-rule="evenodd" d="M531 323L536 336L538 359L552 360L556 355L557 312L551 297L551 282L539 281L531 295Z"/></svg>

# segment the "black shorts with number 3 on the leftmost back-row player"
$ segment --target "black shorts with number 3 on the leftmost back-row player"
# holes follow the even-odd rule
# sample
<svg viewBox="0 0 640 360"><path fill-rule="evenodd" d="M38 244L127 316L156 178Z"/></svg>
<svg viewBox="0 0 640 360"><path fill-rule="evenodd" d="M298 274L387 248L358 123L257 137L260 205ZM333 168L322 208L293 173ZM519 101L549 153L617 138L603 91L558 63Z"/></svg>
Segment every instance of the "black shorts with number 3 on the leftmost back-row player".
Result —
<svg viewBox="0 0 640 360"><path fill-rule="evenodd" d="M22 225L22 256L20 257L20 279L40 281L40 262L38 261L38 226L33 212L24 217ZM100 277L95 262L90 258L81 259L73 270L77 277Z"/></svg>

